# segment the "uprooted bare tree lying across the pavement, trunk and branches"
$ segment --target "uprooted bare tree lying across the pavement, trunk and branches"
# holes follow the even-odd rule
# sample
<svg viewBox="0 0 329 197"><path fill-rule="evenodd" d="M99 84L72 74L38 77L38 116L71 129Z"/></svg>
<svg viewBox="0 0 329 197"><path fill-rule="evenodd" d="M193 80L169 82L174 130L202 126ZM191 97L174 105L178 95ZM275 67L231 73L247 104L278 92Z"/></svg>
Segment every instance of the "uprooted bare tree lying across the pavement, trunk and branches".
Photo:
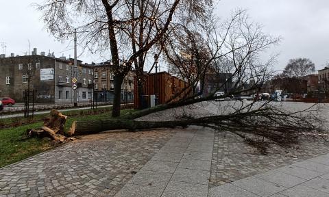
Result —
<svg viewBox="0 0 329 197"><path fill-rule="evenodd" d="M230 102L223 101L226 102L223 105L220 104L222 102L219 102L219 104L212 103L211 105L218 107L219 111L223 111L219 114L208 114L202 117L195 116L195 114L190 114L190 116L183 116L184 114L181 114L182 116L178 120L132 120L133 118L153 114L156 111L177 109L177 107L182 106L209 105L213 100L224 98L230 94L255 94L260 90L263 83L271 77L270 68L273 58L270 57L268 62L262 63L258 59L258 55L273 44L277 44L280 38L272 38L263 33L260 25L249 23L245 12L234 12L232 18L235 18L233 20L234 23L224 23L223 26L229 27L229 29L224 30L224 33L217 31L216 34L219 35L216 39L217 42L205 42L206 46L208 46L206 48L203 47L203 44L194 44L193 46L191 42L184 44L180 40L167 39L167 49L164 49L167 53L168 61L175 66L177 65L179 68L176 69L178 70L184 70L184 66L188 68L188 66L193 67L193 64L197 64L195 63L196 60L193 59L194 57L192 58L193 55L190 55L195 54L197 50L203 51L202 53L204 54L210 54L209 57L206 55L204 59L200 59L210 61L208 63L209 67L205 69L205 72L217 69L230 70L232 73L234 86L226 95L215 96L215 94L209 94L208 96L199 97L197 94L190 94L190 96L182 101L172 100L164 105L137 111L130 116L130 120L101 120L102 122L106 122L106 124L99 124L99 120L77 121L74 122L70 134L98 133L99 131L110 129L136 131L138 129L199 125L231 131L243 137L249 144L259 146L263 148L262 150L265 150L268 143L289 146L298 142L300 133L313 135L317 132L324 131L319 127L321 124L318 124L319 119L317 118L316 110L313 108L301 109L300 111L287 111L280 109L280 107L272 104L271 101L256 102L239 99ZM232 21L231 19L229 21ZM195 38L197 38L195 40L200 40L199 36L204 36L202 34L188 34L186 29L184 29L184 32L186 33L184 36L195 37L191 39L182 36L182 39L188 38L193 41ZM175 46L174 44L178 44L176 45L178 47L173 47ZM216 49L215 51L218 49L218 52L214 53L211 49ZM205 52L205 50L208 51ZM185 73L182 72L182 77L184 75ZM249 86L245 86L246 84Z"/></svg>

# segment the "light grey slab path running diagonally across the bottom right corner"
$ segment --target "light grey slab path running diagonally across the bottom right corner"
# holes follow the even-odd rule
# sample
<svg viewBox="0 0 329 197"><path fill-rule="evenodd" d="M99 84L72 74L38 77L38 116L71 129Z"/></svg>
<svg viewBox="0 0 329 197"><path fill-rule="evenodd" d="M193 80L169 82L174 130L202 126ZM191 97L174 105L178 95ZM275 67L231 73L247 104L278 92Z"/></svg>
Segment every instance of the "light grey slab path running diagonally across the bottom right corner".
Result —
<svg viewBox="0 0 329 197"><path fill-rule="evenodd" d="M328 197L329 155L213 187L208 196Z"/></svg>

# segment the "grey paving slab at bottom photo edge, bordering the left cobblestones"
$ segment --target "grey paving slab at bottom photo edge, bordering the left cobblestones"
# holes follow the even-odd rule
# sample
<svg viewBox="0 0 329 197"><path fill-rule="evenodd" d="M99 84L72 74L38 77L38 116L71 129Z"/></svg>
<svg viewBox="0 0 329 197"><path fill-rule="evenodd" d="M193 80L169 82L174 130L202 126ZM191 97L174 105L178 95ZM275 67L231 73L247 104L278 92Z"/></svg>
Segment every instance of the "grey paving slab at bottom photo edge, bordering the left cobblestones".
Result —
<svg viewBox="0 0 329 197"><path fill-rule="evenodd" d="M149 185L134 185L127 183L115 196L116 197L156 197L161 196L163 187Z"/></svg>

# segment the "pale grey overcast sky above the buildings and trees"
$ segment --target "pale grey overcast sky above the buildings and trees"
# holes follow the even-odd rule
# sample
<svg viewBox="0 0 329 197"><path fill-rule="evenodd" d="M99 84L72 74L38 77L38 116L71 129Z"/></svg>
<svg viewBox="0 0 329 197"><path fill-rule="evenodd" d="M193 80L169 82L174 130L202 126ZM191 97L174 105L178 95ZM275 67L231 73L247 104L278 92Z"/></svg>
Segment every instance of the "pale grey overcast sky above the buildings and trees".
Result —
<svg viewBox="0 0 329 197"><path fill-rule="evenodd" d="M0 42L5 42L10 53L24 55L38 48L38 53L55 52L56 57L73 57L72 42L56 41L44 29L40 13L31 3L41 0L0 0ZM329 62L329 1L328 0L221 0L216 4L216 14L227 18L232 10L247 10L252 21L263 25L265 32L281 36L282 42L270 53L280 53L275 70L282 70L291 58L307 57L317 69ZM0 43L0 53L2 53ZM81 49L80 49L81 52ZM78 53L79 54L79 53ZM101 62L90 54L79 57L84 62Z"/></svg>

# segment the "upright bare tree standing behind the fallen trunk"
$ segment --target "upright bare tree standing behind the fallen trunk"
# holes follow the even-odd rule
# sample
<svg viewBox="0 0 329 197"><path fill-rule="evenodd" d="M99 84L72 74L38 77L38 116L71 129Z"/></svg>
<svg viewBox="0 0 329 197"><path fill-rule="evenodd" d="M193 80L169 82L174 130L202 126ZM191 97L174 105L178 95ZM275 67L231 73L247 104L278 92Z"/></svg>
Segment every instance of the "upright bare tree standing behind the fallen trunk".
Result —
<svg viewBox="0 0 329 197"><path fill-rule="evenodd" d="M60 40L67 32L83 32L80 41L90 51L106 53L114 71L112 116L120 115L121 84L133 65L138 92L147 52L180 17L202 17L212 0L47 0L37 5L47 29ZM177 13L177 14L175 14ZM140 94L140 93L138 93Z"/></svg>

